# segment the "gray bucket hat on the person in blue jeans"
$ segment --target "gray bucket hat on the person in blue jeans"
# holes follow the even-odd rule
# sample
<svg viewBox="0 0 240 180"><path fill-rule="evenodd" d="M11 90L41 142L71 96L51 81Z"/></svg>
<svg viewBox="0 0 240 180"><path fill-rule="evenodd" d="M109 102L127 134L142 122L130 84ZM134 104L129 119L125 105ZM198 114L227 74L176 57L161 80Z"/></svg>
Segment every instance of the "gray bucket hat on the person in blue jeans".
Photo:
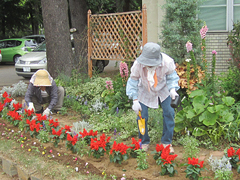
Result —
<svg viewBox="0 0 240 180"><path fill-rule="evenodd" d="M144 45L142 54L137 58L140 64L145 66L158 66L162 62L162 54L160 46L153 42Z"/></svg>

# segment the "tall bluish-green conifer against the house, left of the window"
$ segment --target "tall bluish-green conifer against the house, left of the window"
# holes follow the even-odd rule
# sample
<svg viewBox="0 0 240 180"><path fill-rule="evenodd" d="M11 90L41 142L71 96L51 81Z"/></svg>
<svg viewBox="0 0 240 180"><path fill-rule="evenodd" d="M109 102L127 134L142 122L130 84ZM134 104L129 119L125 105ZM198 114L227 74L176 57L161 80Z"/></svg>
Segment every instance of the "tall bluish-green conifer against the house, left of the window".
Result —
<svg viewBox="0 0 240 180"><path fill-rule="evenodd" d="M163 6L166 15L162 22L162 47L179 64L187 54L187 41L190 40L195 45L196 54L200 53L198 42L202 22L196 17L201 2L202 0L166 0Z"/></svg>

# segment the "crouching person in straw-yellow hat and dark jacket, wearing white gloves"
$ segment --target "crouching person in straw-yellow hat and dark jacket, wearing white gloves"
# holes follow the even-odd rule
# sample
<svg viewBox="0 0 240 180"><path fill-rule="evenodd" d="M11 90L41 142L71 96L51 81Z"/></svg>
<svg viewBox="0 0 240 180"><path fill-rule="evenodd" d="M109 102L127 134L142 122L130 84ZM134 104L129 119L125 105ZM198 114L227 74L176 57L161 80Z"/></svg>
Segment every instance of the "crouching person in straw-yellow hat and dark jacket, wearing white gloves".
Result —
<svg viewBox="0 0 240 180"><path fill-rule="evenodd" d="M34 73L30 79L25 102L28 109L35 113L43 113L43 116L49 116L50 112L57 113L61 110L64 99L64 88L57 87L55 81L45 69L40 69ZM42 105L49 103L44 110Z"/></svg>

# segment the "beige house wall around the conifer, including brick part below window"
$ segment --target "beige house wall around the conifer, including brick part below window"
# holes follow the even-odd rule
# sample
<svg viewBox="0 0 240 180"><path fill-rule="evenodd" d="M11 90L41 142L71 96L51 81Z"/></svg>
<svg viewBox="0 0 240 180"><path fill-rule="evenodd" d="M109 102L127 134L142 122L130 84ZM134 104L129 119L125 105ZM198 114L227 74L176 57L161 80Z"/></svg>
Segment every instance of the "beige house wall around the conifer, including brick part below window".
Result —
<svg viewBox="0 0 240 180"><path fill-rule="evenodd" d="M161 22L164 18L164 9L162 6L165 0L143 0L142 4L147 7L147 34L148 42L161 42L159 35L161 34ZM199 29L200 31L200 29ZM227 61L231 58L227 47L228 33L208 32L206 36L206 58L208 60L209 71L211 70L212 50L217 51L216 56L216 73L226 72L228 69Z"/></svg>

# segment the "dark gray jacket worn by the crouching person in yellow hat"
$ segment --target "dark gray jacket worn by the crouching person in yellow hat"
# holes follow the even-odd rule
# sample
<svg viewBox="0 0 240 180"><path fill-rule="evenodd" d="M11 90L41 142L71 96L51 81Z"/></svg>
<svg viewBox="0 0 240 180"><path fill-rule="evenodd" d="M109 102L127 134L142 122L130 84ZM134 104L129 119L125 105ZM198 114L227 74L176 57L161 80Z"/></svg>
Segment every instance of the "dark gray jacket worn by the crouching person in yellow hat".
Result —
<svg viewBox="0 0 240 180"><path fill-rule="evenodd" d="M53 109L58 102L58 87L54 80L52 80L52 86L46 86L46 91L50 96L50 103L48 108ZM34 86L32 83L29 83L27 92L25 94L25 101L28 104L31 101L31 98L36 96L39 103L42 103L42 95L40 87Z"/></svg>

